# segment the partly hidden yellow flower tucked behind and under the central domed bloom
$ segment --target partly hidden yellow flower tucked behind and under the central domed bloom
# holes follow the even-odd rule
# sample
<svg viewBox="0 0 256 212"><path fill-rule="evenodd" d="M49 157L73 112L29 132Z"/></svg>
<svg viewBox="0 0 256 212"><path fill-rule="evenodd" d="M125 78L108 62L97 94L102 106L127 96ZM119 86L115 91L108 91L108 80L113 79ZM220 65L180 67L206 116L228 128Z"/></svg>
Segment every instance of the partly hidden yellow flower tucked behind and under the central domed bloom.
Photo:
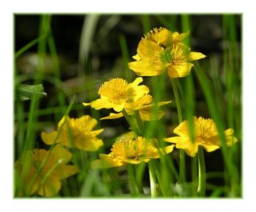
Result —
<svg viewBox="0 0 256 212"><path fill-rule="evenodd" d="M138 111L140 114L140 118L144 121L151 121L155 119L161 119L165 112L161 110L157 110L156 114L152 114L152 109L154 108L154 104L152 103L153 98L149 94L143 95L138 101L135 101L133 103L127 103L124 109L127 111L127 114L132 115L135 113L135 111ZM167 103L171 103L171 101L162 101L157 103L157 106L162 106ZM123 113L110 113L108 117L103 117L103 119L118 119L120 117L123 117Z"/></svg>

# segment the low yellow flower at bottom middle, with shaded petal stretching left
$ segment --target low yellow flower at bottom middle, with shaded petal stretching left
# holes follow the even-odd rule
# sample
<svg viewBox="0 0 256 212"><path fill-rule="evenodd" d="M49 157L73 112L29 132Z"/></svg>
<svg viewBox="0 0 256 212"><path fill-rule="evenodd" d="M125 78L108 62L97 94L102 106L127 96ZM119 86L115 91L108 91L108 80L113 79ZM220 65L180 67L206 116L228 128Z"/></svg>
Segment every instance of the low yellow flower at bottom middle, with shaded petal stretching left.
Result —
<svg viewBox="0 0 256 212"><path fill-rule="evenodd" d="M139 164L173 151L174 145L158 149L154 146L156 143L155 138L146 139L136 136L133 132L125 133L116 139L110 154L99 154L101 159L91 162L91 168L111 168L127 163Z"/></svg>

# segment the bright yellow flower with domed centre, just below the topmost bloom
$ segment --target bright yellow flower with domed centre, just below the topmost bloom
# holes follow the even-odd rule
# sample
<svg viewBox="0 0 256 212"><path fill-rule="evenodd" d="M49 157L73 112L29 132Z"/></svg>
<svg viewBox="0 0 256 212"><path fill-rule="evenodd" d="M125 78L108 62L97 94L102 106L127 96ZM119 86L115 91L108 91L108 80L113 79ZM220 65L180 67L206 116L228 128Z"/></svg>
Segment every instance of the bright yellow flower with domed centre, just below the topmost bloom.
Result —
<svg viewBox="0 0 256 212"><path fill-rule="evenodd" d="M126 103L138 101L145 93L149 92L148 87L139 85L143 82L141 77L129 83L125 79L114 78L99 88L100 98L91 103L83 103L84 106L91 106L94 109L110 109L120 112L124 109Z"/></svg>

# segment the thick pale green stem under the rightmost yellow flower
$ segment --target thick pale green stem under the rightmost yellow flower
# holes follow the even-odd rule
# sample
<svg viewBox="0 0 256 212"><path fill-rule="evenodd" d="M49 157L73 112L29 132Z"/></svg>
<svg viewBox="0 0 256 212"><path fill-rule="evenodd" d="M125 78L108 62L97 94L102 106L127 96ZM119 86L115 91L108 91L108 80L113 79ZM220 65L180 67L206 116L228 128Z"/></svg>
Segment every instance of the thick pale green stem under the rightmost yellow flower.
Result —
<svg viewBox="0 0 256 212"><path fill-rule="evenodd" d="M206 196L206 163L203 156L202 146L198 146L198 188L197 192L200 197Z"/></svg>

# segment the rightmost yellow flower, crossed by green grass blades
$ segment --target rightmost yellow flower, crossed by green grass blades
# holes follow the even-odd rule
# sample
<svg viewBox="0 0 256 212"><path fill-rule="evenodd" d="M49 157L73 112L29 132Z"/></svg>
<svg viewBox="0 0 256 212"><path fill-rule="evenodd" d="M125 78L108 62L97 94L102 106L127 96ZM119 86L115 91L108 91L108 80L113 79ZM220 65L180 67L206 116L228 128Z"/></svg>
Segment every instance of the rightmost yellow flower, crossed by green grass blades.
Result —
<svg viewBox="0 0 256 212"><path fill-rule="evenodd" d="M187 120L181 122L173 132L178 136L165 138L165 141L176 144L176 148L184 149L191 157L197 153L198 146L203 146L207 152L213 152L222 145L217 127L212 119L204 119L203 117L193 117L195 141L192 143L189 138L189 125ZM233 137L233 129L225 130L226 145L232 146L238 140Z"/></svg>

